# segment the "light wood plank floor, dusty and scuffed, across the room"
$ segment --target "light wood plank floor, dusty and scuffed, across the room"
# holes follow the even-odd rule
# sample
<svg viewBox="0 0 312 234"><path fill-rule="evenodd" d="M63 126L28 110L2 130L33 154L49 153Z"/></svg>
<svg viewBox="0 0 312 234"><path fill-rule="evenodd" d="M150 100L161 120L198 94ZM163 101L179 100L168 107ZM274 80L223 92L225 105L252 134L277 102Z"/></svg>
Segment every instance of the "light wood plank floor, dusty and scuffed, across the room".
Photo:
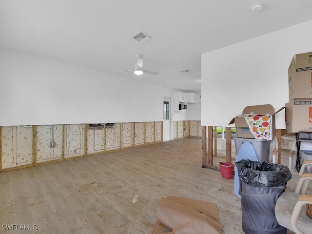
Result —
<svg viewBox="0 0 312 234"><path fill-rule="evenodd" d="M202 168L201 149L183 138L0 173L0 233L151 234L160 198L175 195L215 202L223 233L243 234L234 178Z"/></svg>

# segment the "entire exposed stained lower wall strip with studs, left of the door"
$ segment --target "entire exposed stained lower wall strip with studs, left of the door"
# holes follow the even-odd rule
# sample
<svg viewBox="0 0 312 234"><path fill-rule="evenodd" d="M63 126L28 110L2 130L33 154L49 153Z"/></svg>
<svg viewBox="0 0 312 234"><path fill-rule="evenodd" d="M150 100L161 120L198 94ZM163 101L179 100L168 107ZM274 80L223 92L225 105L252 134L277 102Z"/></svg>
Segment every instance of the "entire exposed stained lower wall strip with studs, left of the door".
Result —
<svg viewBox="0 0 312 234"><path fill-rule="evenodd" d="M161 141L161 121L0 126L0 172Z"/></svg>

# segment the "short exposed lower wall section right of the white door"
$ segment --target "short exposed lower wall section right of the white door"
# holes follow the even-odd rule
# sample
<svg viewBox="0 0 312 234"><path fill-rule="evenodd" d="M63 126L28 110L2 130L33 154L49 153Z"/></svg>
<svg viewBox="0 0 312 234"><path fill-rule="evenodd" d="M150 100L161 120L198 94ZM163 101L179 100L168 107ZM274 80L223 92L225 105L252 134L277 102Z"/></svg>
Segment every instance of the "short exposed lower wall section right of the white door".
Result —
<svg viewBox="0 0 312 234"><path fill-rule="evenodd" d="M182 137L202 137L200 120L174 121L174 139Z"/></svg>

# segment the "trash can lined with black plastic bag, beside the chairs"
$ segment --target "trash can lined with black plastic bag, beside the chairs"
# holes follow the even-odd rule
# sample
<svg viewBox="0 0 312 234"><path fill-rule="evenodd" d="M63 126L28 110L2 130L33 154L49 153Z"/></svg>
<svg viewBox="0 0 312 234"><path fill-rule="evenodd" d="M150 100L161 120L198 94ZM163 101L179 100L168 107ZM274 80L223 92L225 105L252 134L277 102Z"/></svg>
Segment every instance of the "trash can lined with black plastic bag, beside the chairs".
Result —
<svg viewBox="0 0 312 234"><path fill-rule="evenodd" d="M289 168L271 162L235 162L240 180L242 229L246 234L286 234L275 218L275 204L292 178Z"/></svg>

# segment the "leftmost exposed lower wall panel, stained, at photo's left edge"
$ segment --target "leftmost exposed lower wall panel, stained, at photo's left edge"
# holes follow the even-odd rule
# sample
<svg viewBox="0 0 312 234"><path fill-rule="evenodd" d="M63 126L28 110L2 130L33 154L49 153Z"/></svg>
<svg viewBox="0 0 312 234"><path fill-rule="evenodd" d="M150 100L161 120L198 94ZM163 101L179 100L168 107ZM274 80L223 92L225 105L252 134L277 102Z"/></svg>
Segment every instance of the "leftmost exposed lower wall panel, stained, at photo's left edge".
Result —
<svg viewBox="0 0 312 234"><path fill-rule="evenodd" d="M33 163L33 128L1 127L1 169Z"/></svg>

